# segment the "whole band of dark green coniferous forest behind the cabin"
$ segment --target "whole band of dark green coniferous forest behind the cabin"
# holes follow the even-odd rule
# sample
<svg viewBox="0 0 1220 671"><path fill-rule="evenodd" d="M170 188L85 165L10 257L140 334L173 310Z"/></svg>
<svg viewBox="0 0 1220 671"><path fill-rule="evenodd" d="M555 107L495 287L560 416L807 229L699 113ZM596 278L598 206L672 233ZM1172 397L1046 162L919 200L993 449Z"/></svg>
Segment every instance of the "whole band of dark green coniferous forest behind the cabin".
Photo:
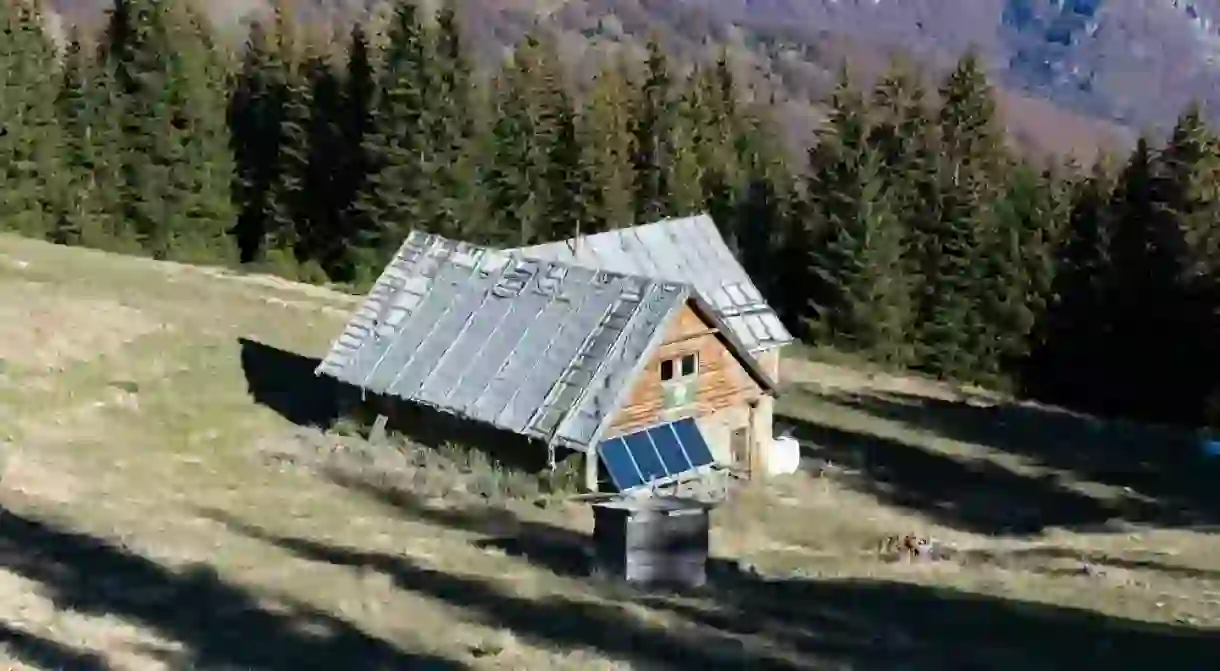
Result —
<svg viewBox="0 0 1220 671"><path fill-rule="evenodd" d="M0 1L0 229L366 287L406 231L516 246L709 212L806 342L1086 411L1220 420L1220 135L1093 166L1005 142L982 63L844 72L803 159L728 57L473 67L454 7L242 49L115 0L56 45Z"/></svg>

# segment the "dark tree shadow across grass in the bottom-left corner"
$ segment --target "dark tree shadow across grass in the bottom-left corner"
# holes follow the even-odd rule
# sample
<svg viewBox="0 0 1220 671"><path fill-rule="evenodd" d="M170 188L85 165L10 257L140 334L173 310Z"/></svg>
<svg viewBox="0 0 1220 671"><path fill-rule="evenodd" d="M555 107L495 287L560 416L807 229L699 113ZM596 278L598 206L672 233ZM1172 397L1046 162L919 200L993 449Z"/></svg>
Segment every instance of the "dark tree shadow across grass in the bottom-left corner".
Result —
<svg viewBox="0 0 1220 671"><path fill-rule="evenodd" d="M207 566L171 570L126 548L10 511L0 511L0 569L40 583L60 609L117 617L181 643L184 653L182 659L174 655L177 667L465 669L401 650L292 599L251 594ZM267 601L279 608L268 610ZM6 636L18 654L22 648L30 658L54 654L20 632ZM66 662L62 667L77 669Z"/></svg>

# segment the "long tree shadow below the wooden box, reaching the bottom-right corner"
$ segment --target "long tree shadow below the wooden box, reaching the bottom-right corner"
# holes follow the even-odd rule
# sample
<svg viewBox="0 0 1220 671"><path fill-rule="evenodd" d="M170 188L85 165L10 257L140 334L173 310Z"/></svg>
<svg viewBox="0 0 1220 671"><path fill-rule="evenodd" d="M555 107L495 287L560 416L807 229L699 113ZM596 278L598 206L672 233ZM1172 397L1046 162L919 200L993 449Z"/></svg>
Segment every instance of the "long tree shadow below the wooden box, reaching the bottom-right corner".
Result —
<svg viewBox="0 0 1220 671"><path fill-rule="evenodd" d="M505 512L492 515L503 521ZM477 506L461 509L461 528L473 526L477 516ZM433 516L427 521L442 523ZM383 572L401 589L460 608L531 643L592 649L647 669L1194 671L1220 664L1215 632L944 588L726 572L704 589L678 595L589 582L578 590L582 597L528 598L481 577L422 566L409 556L229 523L238 533L304 559ZM554 537L565 533L571 532ZM667 623L642 619L639 606L665 616Z"/></svg>

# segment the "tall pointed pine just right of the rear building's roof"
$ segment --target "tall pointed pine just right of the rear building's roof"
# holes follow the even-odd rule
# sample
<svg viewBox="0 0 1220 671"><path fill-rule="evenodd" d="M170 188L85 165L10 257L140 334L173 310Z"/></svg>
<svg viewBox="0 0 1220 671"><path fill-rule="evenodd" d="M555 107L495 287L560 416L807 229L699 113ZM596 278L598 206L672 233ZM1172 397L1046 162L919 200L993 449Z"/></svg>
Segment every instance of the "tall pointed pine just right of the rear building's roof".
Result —
<svg viewBox="0 0 1220 671"><path fill-rule="evenodd" d="M814 207L830 229L827 245L814 253L822 290L810 331L824 343L900 362L911 315L900 270L905 240L869 133L864 100L844 77L810 156Z"/></svg>

